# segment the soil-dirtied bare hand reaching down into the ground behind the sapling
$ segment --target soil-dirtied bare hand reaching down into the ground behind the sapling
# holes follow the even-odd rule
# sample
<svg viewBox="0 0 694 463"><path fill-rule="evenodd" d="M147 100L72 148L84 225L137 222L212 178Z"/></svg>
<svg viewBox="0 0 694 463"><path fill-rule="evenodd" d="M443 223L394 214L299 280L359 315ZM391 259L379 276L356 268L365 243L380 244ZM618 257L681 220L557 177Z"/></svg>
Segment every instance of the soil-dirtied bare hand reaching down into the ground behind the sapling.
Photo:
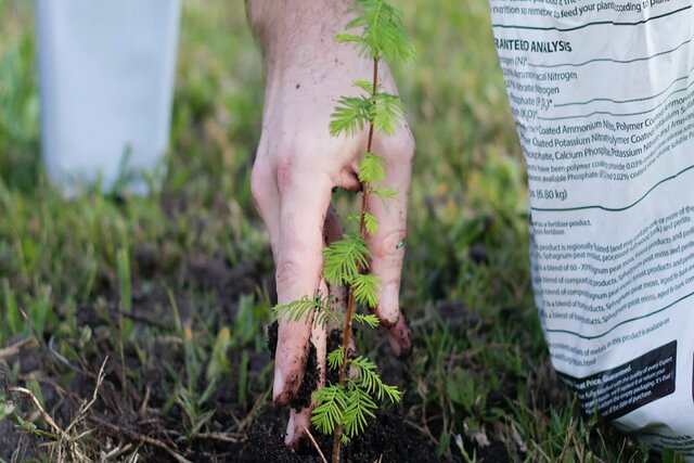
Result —
<svg viewBox="0 0 694 463"><path fill-rule="evenodd" d="M257 2L264 3L264 2ZM266 11L284 23L266 17L256 23L265 46L267 82L262 133L253 168L252 190L265 221L277 265L278 303L286 304L317 290L329 291L322 272L322 248L338 239L342 227L327 214L334 188L360 190L358 163L367 147L364 130L355 137L330 136L327 125L342 95L358 94L357 78L369 80L372 62L349 44L336 43L335 34L348 21L344 2L273 3ZM303 7L304 5L304 7ZM282 9L288 9L281 12ZM262 10L262 7L259 7ZM250 11L252 21L253 5ZM291 13L287 15L287 13ZM291 27L286 22L292 22ZM272 29L268 29L273 25ZM283 27L284 26L284 27ZM265 27L265 28L264 28ZM382 65L381 82L397 93L389 70ZM371 271L382 287L376 314L396 355L409 351L410 331L399 308L400 271L406 239L407 200L410 189L414 142L407 126L393 137L375 136L374 153L386 160L386 179L380 187L395 189L397 197L384 205L371 195L368 209L380 220L378 233L370 236ZM344 300L344 297L342 297ZM309 340L316 347L320 369L319 387L325 375L325 331L305 321L279 326L273 400L291 403L304 378ZM310 427L311 407L293 409L287 443L296 443Z"/></svg>

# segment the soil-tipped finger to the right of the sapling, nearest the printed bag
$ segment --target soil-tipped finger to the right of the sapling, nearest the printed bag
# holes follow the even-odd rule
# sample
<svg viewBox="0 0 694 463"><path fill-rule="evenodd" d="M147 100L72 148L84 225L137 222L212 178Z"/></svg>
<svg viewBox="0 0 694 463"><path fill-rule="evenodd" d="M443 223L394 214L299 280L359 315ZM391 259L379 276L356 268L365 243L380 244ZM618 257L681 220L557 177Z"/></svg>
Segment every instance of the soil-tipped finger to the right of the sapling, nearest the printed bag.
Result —
<svg viewBox="0 0 694 463"><path fill-rule="evenodd" d="M414 141L409 134L398 134L393 139L376 142L376 153L383 153L386 160L386 177L380 188L394 189L396 196L382 200L370 194L368 209L378 219L378 230L370 236L372 261L371 271L381 280L376 314L385 329L388 342L396 355L411 349L410 330L400 312L400 272L404 256L407 229L407 206L412 176Z"/></svg>

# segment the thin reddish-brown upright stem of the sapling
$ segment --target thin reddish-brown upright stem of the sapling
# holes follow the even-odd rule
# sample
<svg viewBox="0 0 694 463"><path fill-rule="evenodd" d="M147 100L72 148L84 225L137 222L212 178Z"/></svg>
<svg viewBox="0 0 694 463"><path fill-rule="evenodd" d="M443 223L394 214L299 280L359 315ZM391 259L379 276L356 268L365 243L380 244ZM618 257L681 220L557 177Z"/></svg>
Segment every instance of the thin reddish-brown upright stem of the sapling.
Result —
<svg viewBox="0 0 694 463"><path fill-rule="evenodd" d="M375 97L378 90L378 59L373 59L373 81L371 87L371 95ZM374 102L375 104L375 102ZM367 152L371 153L373 145L373 121L369 124L369 141L367 142ZM369 200L369 183L363 185L363 194L361 195L361 219L359 221L359 234L362 239L367 239L367 222L364 216L367 214L367 201ZM347 317L345 317L345 327L343 329L343 362L339 366L338 384L345 387L347 381L347 362L349 360L349 345L351 343L351 322L355 318L355 293L349 292L347 303ZM333 434L333 455L332 463L339 463L339 445L343 437L343 426L337 425Z"/></svg>

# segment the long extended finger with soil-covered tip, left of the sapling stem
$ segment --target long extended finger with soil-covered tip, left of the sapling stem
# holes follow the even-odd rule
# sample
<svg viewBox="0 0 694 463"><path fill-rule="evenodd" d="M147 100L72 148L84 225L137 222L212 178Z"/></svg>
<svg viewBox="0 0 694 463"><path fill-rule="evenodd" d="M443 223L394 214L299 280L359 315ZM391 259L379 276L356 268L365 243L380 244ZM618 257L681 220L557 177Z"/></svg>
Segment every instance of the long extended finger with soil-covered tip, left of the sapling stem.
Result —
<svg viewBox="0 0 694 463"><path fill-rule="evenodd" d="M280 237L277 250L278 303L312 297L322 268L323 223L331 185L323 178L306 179L311 169L278 172ZM311 320L280 320L274 364L273 400L286 404L297 393L306 365Z"/></svg>

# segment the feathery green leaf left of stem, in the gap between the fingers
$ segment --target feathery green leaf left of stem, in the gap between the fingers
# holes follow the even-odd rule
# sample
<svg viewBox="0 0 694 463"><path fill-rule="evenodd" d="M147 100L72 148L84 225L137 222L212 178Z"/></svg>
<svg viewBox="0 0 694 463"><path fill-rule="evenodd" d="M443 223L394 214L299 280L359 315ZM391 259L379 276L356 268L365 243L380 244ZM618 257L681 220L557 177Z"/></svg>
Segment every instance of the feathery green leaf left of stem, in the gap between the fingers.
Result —
<svg viewBox="0 0 694 463"><path fill-rule="evenodd" d="M323 248L323 276L337 286L351 283L360 270L369 267L371 252L367 241L355 234L345 234L343 240L334 241Z"/></svg>

